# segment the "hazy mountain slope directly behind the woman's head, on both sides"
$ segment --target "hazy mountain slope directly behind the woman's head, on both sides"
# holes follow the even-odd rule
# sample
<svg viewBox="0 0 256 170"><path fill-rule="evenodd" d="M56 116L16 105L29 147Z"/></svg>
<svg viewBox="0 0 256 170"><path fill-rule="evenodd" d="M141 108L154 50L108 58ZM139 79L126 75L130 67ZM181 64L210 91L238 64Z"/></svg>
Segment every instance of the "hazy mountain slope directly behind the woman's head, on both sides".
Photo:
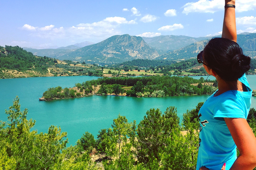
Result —
<svg viewBox="0 0 256 170"><path fill-rule="evenodd" d="M182 60L196 58L197 54L204 49L204 46L207 44L208 41L209 39L194 42L183 48L170 51L166 54L162 54L156 59ZM237 35L237 43L241 46L245 55L248 55L250 57L256 56L256 33Z"/></svg>

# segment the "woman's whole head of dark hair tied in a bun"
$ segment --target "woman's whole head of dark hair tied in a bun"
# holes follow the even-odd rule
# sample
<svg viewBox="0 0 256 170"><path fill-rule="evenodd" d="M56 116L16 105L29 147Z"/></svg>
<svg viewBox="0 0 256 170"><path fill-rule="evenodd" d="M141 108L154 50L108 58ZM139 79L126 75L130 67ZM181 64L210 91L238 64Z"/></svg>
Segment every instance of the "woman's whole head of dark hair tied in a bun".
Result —
<svg viewBox="0 0 256 170"><path fill-rule="evenodd" d="M204 60L224 81L235 81L250 69L251 58L236 42L213 38L204 48Z"/></svg>

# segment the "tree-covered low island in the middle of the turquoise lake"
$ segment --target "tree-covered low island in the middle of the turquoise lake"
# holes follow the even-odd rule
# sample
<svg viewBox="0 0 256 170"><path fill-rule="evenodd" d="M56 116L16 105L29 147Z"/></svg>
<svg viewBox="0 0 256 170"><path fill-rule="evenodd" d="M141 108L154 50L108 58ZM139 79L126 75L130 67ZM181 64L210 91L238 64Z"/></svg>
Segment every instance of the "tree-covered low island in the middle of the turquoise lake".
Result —
<svg viewBox="0 0 256 170"><path fill-rule="evenodd" d="M125 95L133 97L165 97L212 94L217 90L215 80L199 80L191 77L104 77L83 83L73 88L52 87L43 93L41 100L84 97L87 95Z"/></svg>

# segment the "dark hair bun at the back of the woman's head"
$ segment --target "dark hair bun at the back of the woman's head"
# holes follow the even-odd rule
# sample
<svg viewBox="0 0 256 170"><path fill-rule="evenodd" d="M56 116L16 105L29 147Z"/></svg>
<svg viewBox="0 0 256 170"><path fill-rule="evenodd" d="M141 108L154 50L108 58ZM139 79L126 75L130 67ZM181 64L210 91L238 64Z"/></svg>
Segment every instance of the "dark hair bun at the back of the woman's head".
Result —
<svg viewBox="0 0 256 170"><path fill-rule="evenodd" d="M243 75L250 69L251 58L243 54L236 54L231 60L232 72L238 73L238 75ZM240 77L241 77L240 76Z"/></svg>

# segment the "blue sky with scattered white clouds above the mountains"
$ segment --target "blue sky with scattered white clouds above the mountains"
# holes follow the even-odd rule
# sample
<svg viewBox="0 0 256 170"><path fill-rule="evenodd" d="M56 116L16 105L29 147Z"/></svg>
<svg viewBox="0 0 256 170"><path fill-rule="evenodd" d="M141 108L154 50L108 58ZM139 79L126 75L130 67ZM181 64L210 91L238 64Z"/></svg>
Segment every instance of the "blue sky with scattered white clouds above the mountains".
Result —
<svg viewBox="0 0 256 170"><path fill-rule="evenodd" d="M1 0L0 45L49 48L113 35L221 34L224 0ZM236 0L237 33L256 33L256 0Z"/></svg>

